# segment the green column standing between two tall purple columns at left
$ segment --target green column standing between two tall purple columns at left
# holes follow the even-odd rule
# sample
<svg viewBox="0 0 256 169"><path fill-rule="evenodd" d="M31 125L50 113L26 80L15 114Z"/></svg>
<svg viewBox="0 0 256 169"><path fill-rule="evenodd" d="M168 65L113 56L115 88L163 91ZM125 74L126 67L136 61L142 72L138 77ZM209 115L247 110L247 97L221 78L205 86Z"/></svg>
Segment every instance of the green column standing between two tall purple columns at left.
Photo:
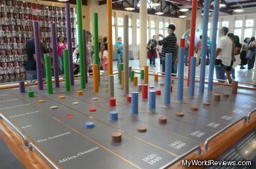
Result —
<svg viewBox="0 0 256 169"><path fill-rule="evenodd" d="M52 68L51 68L51 57L49 55L44 56L45 61L45 73L46 73L46 83L47 83L47 92L52 94Z"/></svg>

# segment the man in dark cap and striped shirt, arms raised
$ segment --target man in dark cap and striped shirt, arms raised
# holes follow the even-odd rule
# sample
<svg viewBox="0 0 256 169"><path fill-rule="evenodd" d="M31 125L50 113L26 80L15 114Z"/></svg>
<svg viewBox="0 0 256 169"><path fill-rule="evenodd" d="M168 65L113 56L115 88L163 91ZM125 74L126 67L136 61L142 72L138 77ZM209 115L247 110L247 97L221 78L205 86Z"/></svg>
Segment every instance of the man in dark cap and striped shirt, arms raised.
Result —
<svg viewBox="0 0 256 169"><path fill-rule="evenodd" d="M176 53L179 45L177 45L177 37L174 34L175 26L170 24L167 28L168 36L164 38L162 34L157 35L163 38L163 40L159 40L159 43L163 45L161 54L161 59L163 59L162 71L165 72L165 54L172 54L172 73L177 73L178 55Z"/></svg>

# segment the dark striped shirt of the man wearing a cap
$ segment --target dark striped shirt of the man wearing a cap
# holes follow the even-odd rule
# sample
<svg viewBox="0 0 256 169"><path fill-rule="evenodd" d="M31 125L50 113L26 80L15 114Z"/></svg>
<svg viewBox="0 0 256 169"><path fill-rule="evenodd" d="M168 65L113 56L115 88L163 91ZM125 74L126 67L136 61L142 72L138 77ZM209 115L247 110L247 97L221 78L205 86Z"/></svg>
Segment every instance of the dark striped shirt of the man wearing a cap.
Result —
<svg viewBox="0 0 256 169"><path fill-rule="evenodd" d="M163 40L160 41L163 45L161 59L165 59L165 54L172 54L172 61L175 61L175 54L176 54L176 43L177 37L174 33L169 34Z"/></svg>

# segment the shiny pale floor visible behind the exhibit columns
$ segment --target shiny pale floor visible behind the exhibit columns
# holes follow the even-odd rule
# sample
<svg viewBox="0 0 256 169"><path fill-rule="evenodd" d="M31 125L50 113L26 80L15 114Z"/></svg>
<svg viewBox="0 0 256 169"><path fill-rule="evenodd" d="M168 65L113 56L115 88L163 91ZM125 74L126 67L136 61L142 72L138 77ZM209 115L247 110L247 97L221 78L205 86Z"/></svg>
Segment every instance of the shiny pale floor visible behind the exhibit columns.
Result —
<svg viewBox="0 0 256 169"><path fill-rule="evenodd" d="M139 68L139 60L130 60L129 61L129 66L132 66L132 68ZM149 60L147 59L147 65L149 65ZM240 66L236 67L236 80L238 80L239 82L244 82L244 83L252 83L252 84L256 84L256 81L253 80L253 71L248 71L247 70L247 66L245 66L246 69L244 70L240 70ZM116 61L113 62L113 70L117 70L116 68ZM155 72L159 72L161 71L161 67L160 67L160 60L156 59L156 67L150 66L149 68L150 71L155 71ZM184 70L184 75L188 76L188 66L185 66L185 70ZM196 67L196 77L200 76L200 66ZM205 78L209 77L209 66L206 66L205 69ZM216 78L215 76L215 72L214 72L214 78ZM207 79L205 79L207 81Z"/></svg>

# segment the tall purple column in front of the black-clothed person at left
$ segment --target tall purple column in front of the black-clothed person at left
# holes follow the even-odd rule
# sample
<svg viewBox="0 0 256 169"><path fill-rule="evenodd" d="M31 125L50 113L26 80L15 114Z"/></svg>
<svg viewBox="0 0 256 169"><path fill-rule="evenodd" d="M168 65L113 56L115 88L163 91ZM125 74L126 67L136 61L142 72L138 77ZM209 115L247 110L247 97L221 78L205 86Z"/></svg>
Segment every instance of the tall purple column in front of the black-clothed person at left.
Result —
<svg viewBox="0 0 256 169"><path fill-rule="evenodd" d="M43 90L42 64L41 64L41 50L40 50L40 36L38 22L33 22L34 36L35 36L35 55L36 55L36 75L38 81L38 89Z"/></svg>

